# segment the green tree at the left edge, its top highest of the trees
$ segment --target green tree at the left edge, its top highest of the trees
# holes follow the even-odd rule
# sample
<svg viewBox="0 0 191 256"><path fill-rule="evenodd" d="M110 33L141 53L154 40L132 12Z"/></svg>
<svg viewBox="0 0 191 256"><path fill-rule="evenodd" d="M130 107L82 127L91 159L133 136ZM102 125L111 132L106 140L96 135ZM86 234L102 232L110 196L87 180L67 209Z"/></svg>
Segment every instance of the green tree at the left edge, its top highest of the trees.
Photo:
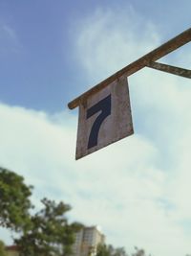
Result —
<svg viewBox="0 0 191 256"><path fill-rule="evenodd" d="M0 225L25 230L30 225L32 186L20 175L0 168Z"/></svg>

